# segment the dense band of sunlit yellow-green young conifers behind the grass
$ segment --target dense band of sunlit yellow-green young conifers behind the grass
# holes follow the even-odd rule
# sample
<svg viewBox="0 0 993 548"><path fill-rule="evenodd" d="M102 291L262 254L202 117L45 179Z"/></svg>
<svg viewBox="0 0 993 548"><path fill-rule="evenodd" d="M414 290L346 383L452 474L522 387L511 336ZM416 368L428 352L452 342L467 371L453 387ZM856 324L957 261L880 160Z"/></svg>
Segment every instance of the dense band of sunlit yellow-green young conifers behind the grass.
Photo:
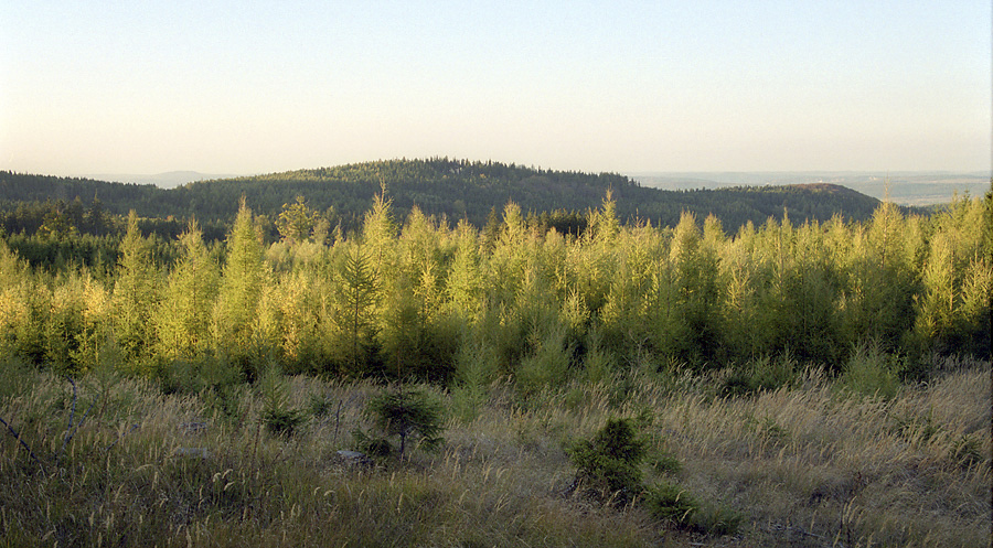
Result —
<svg viewBox="0 0 993 548"><path fill-rule="evenodd" d="M175 244L131 215L116 265L29 268L0 244L0 352L72 374L102 366L190 383L288 373L429 379L527 393L628 367L745 367L788 353L841 367L861 343L905 375L933 353L990 353L991 203L930 218L884 204L841 217L621 226L612 200L581 236L502 223L451 228L377 196L330 238L301 200L264 246L242 204L223 246ZM71 239L71 235L68 235ZM64 239L63 239L64 240ZM169 249L163 251L162 248ZM195 380L194 380L195 379Z"/></svg>

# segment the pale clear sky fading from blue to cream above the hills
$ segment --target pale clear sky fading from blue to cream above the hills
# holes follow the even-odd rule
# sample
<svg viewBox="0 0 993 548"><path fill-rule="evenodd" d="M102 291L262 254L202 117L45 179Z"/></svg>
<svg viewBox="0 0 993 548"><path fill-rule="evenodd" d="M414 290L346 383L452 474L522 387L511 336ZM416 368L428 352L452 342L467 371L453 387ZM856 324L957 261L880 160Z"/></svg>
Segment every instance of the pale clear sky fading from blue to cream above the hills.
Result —
<svg viewBox="0 0 993 548"><path fill-rule="evenodd" d="M0 2L0 170L989 171L989 0Z"/></svg>

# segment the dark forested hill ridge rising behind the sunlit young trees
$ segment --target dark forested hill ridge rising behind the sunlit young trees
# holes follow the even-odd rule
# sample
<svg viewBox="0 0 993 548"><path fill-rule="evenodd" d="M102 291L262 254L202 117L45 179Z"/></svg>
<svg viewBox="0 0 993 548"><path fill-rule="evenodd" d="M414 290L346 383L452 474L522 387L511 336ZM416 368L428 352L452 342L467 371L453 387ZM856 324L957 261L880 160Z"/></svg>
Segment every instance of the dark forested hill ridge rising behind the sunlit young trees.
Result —
<svg viewBox="0 0 993 548"><path fill-rule="evenodd" d="M269 218L285 204L303 196L310 208L348 229L359 225L382 186L401 219L417 205L428 215L444 214L450 222L467 218L478 227L488 222L492 209L499 214L509 201L535 216L558 212L559 218L576 219L598 207L608 190L617 201L621 222L645 219L653 225L674 226L683 211L698 218L713 213L729 233L749 221L760 225L770 216L781 218L784 211L794 223L808 218L824 222L835 214L861 221L872 216L879 203L848 189L823 184L663 191L618 174L434 158L192 182L168 190L0 172L0 209L10 216L18 207L24 211L25 204L60 201L66 207L75 202L76 208L88 208L98 200L104 212L115 215L135 209L141 217L182 219L195 215L201 222L227 223L237 213L243 195L257 214Z"/></svg>

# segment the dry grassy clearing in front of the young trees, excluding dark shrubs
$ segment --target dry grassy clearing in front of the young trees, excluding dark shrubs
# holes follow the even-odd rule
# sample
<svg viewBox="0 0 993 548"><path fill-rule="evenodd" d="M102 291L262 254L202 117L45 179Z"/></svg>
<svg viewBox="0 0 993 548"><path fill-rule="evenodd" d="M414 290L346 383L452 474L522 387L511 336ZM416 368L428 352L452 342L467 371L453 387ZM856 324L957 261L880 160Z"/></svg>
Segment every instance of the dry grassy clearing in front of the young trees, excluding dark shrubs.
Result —
<svg viewBox="0 0 993 548"><path fill-rule="evenodd" d="M3 546L990 542L990 363L943 364L888 398L819 370L734 398L718 396L726 374L637 370L526 399L505 384L435 390L449 409L446 443L373 468L337 456L369 425L372 384L286 378L281 405L309 417L287 436L263 426L273 395L258 386L163 395L95 372L74 398L65 378L0 369L0 418L20 434L0 438ZM564 447L612 416L648 418L647 483L735 516L736 533L568 494L576 469Z"/></svg>

